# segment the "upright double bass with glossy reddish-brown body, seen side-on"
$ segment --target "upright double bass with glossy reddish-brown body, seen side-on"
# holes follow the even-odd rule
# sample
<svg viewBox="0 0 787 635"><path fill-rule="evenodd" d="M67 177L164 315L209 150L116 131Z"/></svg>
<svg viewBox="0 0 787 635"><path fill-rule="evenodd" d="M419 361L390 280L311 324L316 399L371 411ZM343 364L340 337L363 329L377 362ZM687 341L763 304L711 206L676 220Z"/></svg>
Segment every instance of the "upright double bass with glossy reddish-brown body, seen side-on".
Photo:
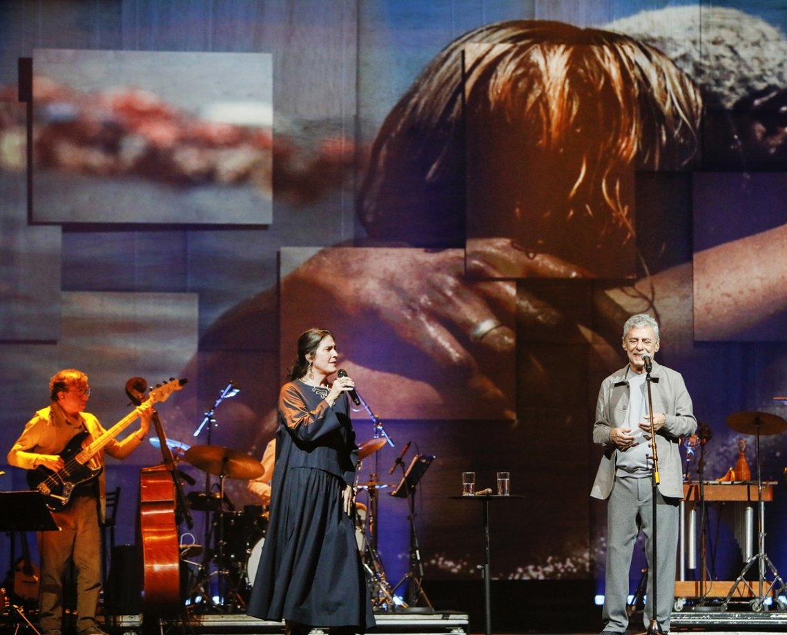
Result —
<svg viewBox="0 0 787 635"><path fill-rule="evenodd" d="M185 383L186 380L182 379ZM144 398L146 381L134 377L126 393L134 403ZM142 633L161 633L161 620L176 619L181 608L178 511L191 527L190 511L183 496L172 450L164 426L153 412L153 425L161 441L164 462L139 471L139 544L142 545Z"/></svg>

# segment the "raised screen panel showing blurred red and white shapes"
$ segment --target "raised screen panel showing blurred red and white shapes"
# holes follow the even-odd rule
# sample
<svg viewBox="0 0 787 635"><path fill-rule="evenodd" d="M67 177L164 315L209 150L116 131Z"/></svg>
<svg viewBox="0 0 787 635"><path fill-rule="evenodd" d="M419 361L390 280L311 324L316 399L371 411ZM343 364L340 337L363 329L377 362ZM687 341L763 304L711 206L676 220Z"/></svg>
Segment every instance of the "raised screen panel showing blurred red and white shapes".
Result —
<svg viewBox="0 0 787 635"><path fill-rule="evenodd" d="M272 56L35 50L33 220L272 222Z"/></svg>

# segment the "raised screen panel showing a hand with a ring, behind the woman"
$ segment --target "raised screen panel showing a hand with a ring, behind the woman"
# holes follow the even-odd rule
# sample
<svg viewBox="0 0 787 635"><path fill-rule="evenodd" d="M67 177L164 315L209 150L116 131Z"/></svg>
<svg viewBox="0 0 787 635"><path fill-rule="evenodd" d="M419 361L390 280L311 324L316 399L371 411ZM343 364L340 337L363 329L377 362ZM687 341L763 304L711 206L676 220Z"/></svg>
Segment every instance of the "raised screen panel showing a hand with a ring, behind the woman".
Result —
<svg viewBox="0 0 787 635"><path fill-rule="evenodd" d="M282 376L298 336L325 328L380 418L514 418L513 282L468 282L461 249L285 248L281 262Z"/></svg>

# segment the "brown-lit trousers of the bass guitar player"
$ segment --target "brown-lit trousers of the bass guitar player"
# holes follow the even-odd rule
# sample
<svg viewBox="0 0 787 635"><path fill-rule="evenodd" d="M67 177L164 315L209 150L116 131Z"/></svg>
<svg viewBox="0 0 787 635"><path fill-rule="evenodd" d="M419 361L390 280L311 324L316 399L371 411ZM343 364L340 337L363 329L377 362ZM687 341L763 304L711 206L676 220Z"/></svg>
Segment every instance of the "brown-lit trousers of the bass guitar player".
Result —
<svg viewBox="0 0 787 635"><path fill-rule="evenodd" d="M76 569L76 630L83 633L96 625L101 593L101 533L98 501L75 497L64 511L52 514L60 531L39 532L41 555L41 601L39 622L43 633L61 630L63 578L73 561Z"/></svg>

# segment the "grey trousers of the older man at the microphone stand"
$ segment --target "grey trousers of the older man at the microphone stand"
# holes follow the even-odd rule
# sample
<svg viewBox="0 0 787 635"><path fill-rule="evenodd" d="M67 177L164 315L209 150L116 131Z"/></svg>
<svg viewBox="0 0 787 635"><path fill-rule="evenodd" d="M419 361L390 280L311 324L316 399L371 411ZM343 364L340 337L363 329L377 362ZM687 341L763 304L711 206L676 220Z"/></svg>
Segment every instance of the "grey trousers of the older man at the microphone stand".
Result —
<svg viewBox="0 0 787 635"><path fill-rule="evenodd" d="M648 559L648 590L645 603L645 630L653 615L653 576L656 571L656 620L666 633L675 593L675 558L678 553L678 499L664 499L656 493L656 566L652 563L652 478L616 477L607 508L607 571L604 590L604 610L601 618L604 630L623 633L629 623L626 600L629 595L629 570L634 544L637 541L637 519L645 534L645 554Z"/></svg>

